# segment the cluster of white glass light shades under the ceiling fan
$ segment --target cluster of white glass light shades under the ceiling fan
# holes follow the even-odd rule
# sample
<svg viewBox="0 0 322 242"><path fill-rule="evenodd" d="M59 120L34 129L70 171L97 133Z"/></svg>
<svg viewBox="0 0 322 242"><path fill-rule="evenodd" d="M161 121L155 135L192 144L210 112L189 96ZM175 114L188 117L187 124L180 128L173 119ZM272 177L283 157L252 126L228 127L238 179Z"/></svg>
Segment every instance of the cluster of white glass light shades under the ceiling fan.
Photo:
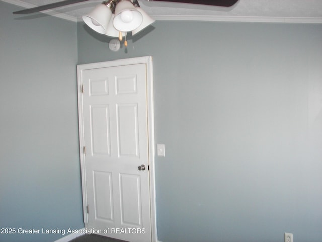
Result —
<svg viewBox="0 0 322 242"><path fill-rule="evenodd" d="M82 16L94 31L122 40L127 32L132 35L155 22L141 8L137 0L108 0Z"/></svg>

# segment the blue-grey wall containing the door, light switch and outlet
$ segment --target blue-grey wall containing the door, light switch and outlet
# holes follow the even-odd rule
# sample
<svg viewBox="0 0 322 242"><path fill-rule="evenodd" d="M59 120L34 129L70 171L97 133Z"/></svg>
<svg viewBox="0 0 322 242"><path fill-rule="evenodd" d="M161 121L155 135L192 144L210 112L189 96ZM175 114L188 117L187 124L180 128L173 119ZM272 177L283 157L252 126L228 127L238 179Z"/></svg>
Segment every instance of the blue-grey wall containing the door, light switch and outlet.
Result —
<svg viewBox="0 0 322 242"><path fill-rule="evenodd" d="M320 241L322 25L157 21L108 50L78 24L78 63L153 56L158 237Z"/></svg>

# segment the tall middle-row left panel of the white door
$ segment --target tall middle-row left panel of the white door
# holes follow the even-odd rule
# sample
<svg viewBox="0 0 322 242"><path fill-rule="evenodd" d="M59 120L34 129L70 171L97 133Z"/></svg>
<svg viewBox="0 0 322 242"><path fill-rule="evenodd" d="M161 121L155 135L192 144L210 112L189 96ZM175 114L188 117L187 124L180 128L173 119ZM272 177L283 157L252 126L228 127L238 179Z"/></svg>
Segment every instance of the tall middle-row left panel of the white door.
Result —
<svg viewBox="0 0 322 242"><path fill-rule="evenodd" d="M90 109L92 156L111 155L109 105L91 105Z"/></svg>

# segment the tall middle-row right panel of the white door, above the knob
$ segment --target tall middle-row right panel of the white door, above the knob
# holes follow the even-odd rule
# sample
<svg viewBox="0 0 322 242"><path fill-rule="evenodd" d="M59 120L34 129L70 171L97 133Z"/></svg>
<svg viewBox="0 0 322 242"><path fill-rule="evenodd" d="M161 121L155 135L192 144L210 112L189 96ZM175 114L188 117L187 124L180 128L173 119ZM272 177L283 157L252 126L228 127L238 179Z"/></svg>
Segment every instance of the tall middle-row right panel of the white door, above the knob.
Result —
<svg viewBox="0 0 322 242"><path fill-rule="evenodd" d="M137 104L117 104L118 156L139 156Z"/></svg>

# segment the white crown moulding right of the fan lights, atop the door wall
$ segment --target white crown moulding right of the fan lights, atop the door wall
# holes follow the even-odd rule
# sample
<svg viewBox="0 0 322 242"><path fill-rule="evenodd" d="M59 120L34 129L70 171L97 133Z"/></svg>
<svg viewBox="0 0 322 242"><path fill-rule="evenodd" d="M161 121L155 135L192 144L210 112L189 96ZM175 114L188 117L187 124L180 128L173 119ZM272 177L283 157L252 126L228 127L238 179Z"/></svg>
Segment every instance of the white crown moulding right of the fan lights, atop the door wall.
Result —
<svg viewBox="0 0 322 242"><path fill-rule="evenodd" d="M151 15L155 20L213 21L213 22L256 22L256 23L315 23L322 18L261 17L261 16L218 16L218 15Z"/></svg>

